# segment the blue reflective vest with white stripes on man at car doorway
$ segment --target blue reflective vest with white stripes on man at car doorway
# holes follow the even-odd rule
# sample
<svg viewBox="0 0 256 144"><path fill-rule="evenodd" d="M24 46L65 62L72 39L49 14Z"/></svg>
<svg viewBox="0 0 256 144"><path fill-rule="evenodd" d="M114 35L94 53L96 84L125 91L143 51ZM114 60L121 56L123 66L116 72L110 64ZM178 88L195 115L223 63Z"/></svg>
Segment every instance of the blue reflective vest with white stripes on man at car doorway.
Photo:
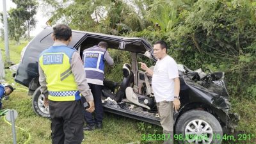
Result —
<svg viewBox="0 0 256 144"><path fill-rule="evenodd" d="M87 83L103 85L105 52L106 49L98 47L97 45L83 51Z"/></svg>

